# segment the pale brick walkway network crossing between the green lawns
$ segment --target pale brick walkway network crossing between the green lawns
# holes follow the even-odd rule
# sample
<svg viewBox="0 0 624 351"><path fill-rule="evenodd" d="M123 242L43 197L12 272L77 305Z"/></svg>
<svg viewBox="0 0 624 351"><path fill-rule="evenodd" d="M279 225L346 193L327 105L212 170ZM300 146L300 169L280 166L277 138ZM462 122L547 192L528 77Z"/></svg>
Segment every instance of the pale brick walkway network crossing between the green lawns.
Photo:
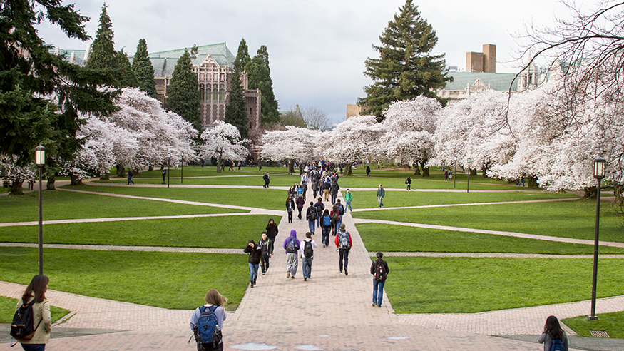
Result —
<svg viewBox="0 0 624 351"><path fill-rule="evenodd" d="M191 186L242 188L228 185L189 185ZM282 189L281 187L272 188ZM283 187L283 190L287 188ZM98 195L120 196L105 193L98 193ZM312 198L311 192L309 197ZM132 196L132 198L142 197ZM162 198L150 198L150 200L172 201ZM285 250L282 249L282 243L293 229L297 230L297 238L300 240L304 238L308 230L305 218L298 220L295 213L293 223L287 223L285 211L188 201L182 203L250 210L250 213L220 213L218 215L283 215L270 270L266 275L258 277L254 288L247 288L237 310L228 311L223 330L225 350L542 350L543 346L536 343L536 335L541 332L543 321L548 315L557 315L560 318L576 317L586 315L590 310L590 302L582 301L470 314L397 315L385 295L382 308L371 306L372 275L369 270L372 253L364 247L355 224L372 220L354 220L350 213L344 215L343 221L354 242L349 253L348 276L338 273L338 253L333 244L334 238L330 237L331 244L328 248L322 248L320 230L317 230L314 240L317 241L319 247L314 252L312 278L304 282L301 264L295 279L286 278L286 255ZM153 217L101 218L100 220L141 219L153 219ZM73 222L76 221L73 220ZM377 222L386 223L387 221ZM389 224L414 225L414 223L394 222ZM0 225L24 224L2 223ZM27 225L32 225L32 223ZM468 230L468 228L454 227L444 229ZM491 234L526 235L507 232ZM535 237L539 235L526 236L526 238ZM537 239L568 240L551 237ZM624 247L622 243L610 244ZM36 247L33 244L0 243L0 246L16 245ZM242 253L240 249L106 245L46 245L46 247L81 250ZM444 253L388 253L387 255L437 255L438 257L460 257L461 255L501 257L503 255L503 257L513 257L511 254L496 253L449 253L447 255ZM541 257L543 255L529 256ZM622 258L620 256L613 255L613 257ZM245 258L241 260L244 262ZM388 283L392 284L392 267L388 279ZM1 296L18 297L23 291L24 285L0 281ZM52 338L46 347L48 350L195 350L193 341L190 344L187 343L191 335L188 321L193 311L166 310L52 290L46 295L52 305L71 311L70 315L53 326ZM624 296L600 299L597 303L598 314L618 311L624 311ZM80 332L76 335L80 336L71 336L73 330L79 330ZM55 331L57 335L63 337L55 337ZM491 335L516 335L516 337ZM526 337L526 335L534 337ZM568 330L568 335L573 335L573 332ZM3 339L0 338L0 340ZM576 345L572 342L571 350L624 350L624 345L617 342L601 344L599 340L579 340L578 344L584 345L583 349L572 348ZM0 344L0 351L4 350L12 350L6 342Z"/></svg>

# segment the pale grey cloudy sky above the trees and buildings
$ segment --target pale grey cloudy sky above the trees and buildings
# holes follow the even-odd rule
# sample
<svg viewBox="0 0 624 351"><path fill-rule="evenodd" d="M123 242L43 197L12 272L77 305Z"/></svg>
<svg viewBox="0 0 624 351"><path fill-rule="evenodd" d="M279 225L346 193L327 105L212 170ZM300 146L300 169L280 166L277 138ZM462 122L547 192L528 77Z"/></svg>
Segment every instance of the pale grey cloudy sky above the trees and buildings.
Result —
<svg viewBox="0 0 624 351"><path fill-rule="evenodd" d="M583 2L583 1L577 1ZM71 1L64 1L71 4ZM275 98L280 111L314 106L332 121L342 121L347 103L363 97L372 83L363 75L364 60L379 57L372 44L398 13L404 0L108 0L115 48L133 55L145 38L148 51L165 51L224 42L236 55L245 38L250 56L261 45L269 51ZM496 44L497 72L514 72L517 44L512 34L528 23L550 26L566 14L556 0L414 1L438 36L434 54L446 54L448 66L466 66L467 51ZM96 34L103 1L76 0L76 9L91 17L88 34ZM56 27L42 24L46 43L62 49L85 49Z"/></svg>

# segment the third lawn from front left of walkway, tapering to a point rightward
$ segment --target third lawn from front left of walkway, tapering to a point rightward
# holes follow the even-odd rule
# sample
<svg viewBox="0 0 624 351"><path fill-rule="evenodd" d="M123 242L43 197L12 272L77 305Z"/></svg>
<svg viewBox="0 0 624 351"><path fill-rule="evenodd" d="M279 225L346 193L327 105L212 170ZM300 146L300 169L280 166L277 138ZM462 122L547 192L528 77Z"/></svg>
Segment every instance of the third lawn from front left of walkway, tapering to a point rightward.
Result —
<svg viewBox="0 0 624 351"><path fill-rule="evenodd" d="M73 189L74 187L68 188ZM92 190L91 188L96 187L81 187L81 190ZM137 195L140 194L137 193ZM245 210L183 205L163 201L113 198L62 190L44 191L42 204L44 220L247 212ZM39 220L38 193L0 197L0 223L33 220Z"/></svg>

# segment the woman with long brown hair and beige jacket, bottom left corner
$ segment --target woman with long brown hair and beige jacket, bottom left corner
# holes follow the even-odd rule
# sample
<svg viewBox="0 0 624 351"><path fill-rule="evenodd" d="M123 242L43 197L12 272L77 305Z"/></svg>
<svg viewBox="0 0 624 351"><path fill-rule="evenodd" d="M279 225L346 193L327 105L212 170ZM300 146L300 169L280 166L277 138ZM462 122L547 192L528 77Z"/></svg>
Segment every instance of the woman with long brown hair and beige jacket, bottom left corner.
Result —
<svg viewBox="0 0 624 351"><path fill-rule="evenodd" d="M35 275L15 307L15 312L17 312L22 305L32 305L33 326L35 327L34 335L30 340L17 340L25 351L44 351L46 350L46 344L50 340L52 317L50 314L50 302L46 299L49 282L50 279L45 275Z"/></svg>

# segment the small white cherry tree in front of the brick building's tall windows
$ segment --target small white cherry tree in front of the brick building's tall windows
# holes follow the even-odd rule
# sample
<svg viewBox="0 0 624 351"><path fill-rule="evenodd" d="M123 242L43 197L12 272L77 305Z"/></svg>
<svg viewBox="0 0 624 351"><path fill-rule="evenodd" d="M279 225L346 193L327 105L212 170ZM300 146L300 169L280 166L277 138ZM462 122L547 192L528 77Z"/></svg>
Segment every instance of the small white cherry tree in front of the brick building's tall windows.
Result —
<svg viewBox="0 0 624 351"><path fill-rule="evenodd" d="M205 143L201 146L202 158L216 158L217 172L221 172L220 164L223 160L245 160L249 151L245 146L249 139L241 139L238 128L223 121L215 121L213 128L202 133Z"/></svg>

